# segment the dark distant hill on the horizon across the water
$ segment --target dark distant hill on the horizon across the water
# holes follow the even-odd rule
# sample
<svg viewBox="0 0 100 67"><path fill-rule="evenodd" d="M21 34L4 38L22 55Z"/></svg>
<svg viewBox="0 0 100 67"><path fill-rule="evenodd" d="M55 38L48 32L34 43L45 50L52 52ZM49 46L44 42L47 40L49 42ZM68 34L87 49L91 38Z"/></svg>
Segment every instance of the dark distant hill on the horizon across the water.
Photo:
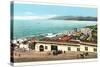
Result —
<svg viewBox="0 0 100 67"><path fill-rule="evenodd" d="M97 17L82 17L82 16L56 16L54 20L79 20L79 21L97 21Z"/></svg>

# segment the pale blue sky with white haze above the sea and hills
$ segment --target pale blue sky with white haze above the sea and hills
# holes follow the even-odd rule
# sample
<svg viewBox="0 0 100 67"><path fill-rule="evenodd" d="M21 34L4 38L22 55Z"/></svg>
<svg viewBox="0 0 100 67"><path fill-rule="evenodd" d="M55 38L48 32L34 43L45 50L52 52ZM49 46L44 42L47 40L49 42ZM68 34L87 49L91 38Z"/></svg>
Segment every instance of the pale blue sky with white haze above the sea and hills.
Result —
<svg viewBox="0 0 100 67"><path fill-rule="evenodd" d="M40 4L14 4L15 19L44 19L54 16L97 16L97 8L40 5Z"/></svg>

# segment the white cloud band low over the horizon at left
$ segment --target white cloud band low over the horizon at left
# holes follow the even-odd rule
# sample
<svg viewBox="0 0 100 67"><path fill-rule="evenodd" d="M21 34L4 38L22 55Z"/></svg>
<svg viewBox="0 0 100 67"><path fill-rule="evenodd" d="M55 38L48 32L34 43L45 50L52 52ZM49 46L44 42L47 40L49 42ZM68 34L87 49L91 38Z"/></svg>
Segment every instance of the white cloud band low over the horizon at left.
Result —
<svg viewBox="0 0 100 67"><path fill-rule="evenodd" d="M14 16L14 20L35 20L35 19L48 19L55 17L56 15L45 15L45 16Z"/></svg>

